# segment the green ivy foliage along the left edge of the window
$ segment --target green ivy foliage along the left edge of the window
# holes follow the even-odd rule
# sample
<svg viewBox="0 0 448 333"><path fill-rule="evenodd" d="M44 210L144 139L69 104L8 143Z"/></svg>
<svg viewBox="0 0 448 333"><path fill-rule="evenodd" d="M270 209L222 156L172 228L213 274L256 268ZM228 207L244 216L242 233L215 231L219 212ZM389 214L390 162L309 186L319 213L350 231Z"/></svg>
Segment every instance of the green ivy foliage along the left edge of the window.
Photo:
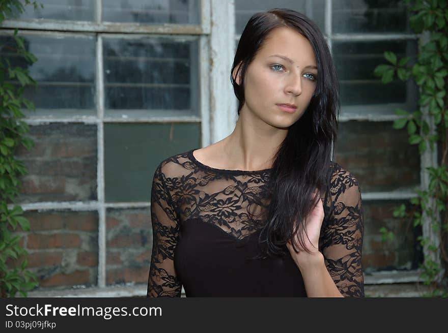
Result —
<svg viewBox="0 0 448 333"><path fill-rule="evenodd" d="M24 5L22 5L24 3ZM5 19L22 13L24 6L36 1L0 0L0 24ZM24 40L12 36L15 45L0 45L0 52L24 59L29 65L36 57L26 51ZM34 109L33 103L23 97L24 88L36 85L26 68L13 66L7 57L0 58L0 293L2 297L26 296L26 291L36 287L37 279L27 267L27 252L20 244L20 236L14 231L18 226L30 230L30 223L23 217L23 210L15 205L20 186L19 177L26 173L23 163L14 156L16 148L31 149L33 141L26 137L28 126L22 120L22 108ZM13 207L11 207L13 206Z"/></svg>

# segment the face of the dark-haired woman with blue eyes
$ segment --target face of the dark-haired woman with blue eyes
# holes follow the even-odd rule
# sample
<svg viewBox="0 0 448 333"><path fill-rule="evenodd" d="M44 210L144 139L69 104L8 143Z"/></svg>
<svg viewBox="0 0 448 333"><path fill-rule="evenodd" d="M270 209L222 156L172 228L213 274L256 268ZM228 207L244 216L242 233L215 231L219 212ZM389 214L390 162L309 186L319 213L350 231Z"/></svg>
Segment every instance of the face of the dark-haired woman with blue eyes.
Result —
<svg viewBox="0 0 448 333"><path fill-rule="evenodd" d="M240 78L235 79L240 83ZM246 69L240 112L276 128L289 128L306 110L317 86L310 42L288 27L273 29ZM284 108L280 104L293 104Z"/></svg>

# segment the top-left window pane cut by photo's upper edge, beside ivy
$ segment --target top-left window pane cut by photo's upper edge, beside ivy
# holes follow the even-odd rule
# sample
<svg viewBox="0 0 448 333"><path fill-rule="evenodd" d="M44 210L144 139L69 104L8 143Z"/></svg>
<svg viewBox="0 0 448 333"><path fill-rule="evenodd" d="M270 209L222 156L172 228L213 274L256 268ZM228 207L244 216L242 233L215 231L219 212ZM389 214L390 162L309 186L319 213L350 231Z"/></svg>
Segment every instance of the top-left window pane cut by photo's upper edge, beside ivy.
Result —
<svg viewBox="0 0 448 333"><path fill-rule="evenodd" d="M38 0L33 5L24 6L21 20L52 19L68 21L93 21L95 19L95 0ZM41 8L40 5L43 5Z"/></svg>

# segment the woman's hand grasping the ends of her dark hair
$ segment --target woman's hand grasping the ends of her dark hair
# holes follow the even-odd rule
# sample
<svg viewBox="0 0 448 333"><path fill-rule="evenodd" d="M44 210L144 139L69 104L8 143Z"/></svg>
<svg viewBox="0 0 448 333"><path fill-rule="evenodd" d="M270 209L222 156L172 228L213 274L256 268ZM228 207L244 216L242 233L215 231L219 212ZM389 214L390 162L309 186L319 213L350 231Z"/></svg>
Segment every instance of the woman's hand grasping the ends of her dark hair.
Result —
<svg viewBox="0 0 448 333"><path fill-rule="evenodd" d="M317 191L313 192L313 196L318 195ZM304 263L309 263L314 258L320 257L322 254L319 252L319 235L320 229L322 227L322 222L324 219L324 208L322 205L322 200L319 197L317 204L314 206L313 210L304 220L304 226L306 229L306 234L302 232L302 239L304 241L305 247L310 251L307 253L298 243L298 232L294 234L294 239L296 243L296 248L298 249L298 253L296 253L291 245L291 242L288 240L286 243L286 247L291 253L292 258L296 262L296 264L300 267L300 265Z"/></svg>

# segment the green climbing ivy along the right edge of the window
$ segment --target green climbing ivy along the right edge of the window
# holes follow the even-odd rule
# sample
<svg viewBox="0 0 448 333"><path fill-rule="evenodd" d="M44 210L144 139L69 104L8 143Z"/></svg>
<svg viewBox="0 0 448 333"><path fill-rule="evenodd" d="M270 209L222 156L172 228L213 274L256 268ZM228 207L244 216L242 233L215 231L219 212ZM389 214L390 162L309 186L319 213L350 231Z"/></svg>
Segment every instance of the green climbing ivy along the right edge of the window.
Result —
<svg viewBox="0 0 448 333"><path fill-rule="evenodd" d="M421 278L424 284L433 287L428 296L448 296L443 291L446 274L442 276L444 266L448 264L448 100L445 90L448 77L448 3L446 0L404 0L404 3L410 10L410 27L416 34L424 36L416 61L411 65L409 57L399 59L394 52L385 51L387 64L377 66L374 74L385 84L398 78L401 81L413 80L418 85L419 110L395 110L399 117L393 128L406 128L409 144L418 145L420 154L427 149L433 152L435 144L439 145L441 160L437 167L426 168L428 187L415 189L417 197L410 200L411 211L406 211L402 204L395 208L394 216L408 218L414 227L423 226L425 221L438 235L436 243L426 236L417 239L427 254L441 257L440 261L433 259L437 256L425 257ZM380 232L383 241L393 237L393 232L384 227Z"/></svg>

